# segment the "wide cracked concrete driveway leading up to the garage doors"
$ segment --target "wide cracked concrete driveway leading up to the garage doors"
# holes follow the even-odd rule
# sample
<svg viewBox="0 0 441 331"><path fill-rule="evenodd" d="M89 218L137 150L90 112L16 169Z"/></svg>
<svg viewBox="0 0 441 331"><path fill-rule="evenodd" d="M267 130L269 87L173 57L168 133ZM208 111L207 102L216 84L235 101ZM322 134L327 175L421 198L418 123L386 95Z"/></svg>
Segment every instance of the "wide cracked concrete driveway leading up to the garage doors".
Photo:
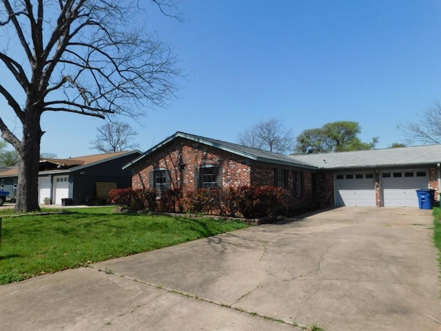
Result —
<svg viewBox="0 0 441 331"><path fill-rule="evenodd" d="M337 208L0 286L0 329L438 331L432 236L430 210Z"/></svg>

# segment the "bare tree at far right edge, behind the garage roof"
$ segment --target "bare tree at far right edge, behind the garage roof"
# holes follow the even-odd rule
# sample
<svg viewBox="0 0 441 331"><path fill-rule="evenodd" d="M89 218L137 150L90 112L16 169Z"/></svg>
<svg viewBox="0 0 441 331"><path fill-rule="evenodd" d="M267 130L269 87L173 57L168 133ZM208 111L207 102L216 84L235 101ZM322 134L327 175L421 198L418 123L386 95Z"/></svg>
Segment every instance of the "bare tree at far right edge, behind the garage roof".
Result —
<svg viewBox="0 0 441 331"><path fill-rule="evenodd" d="M403 132L407 144L441 143L441 104L435 104L422 112L419 123L400 123L398 129Z"/></svg>

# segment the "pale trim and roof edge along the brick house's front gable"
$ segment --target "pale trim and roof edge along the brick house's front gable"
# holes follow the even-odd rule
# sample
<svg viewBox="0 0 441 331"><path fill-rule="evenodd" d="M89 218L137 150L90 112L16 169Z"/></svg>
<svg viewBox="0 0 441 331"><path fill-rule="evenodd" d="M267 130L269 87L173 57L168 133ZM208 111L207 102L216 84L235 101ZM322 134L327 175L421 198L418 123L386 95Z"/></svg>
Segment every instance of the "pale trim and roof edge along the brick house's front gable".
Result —
<svg viewBox="0 0 441 331"><path fill-rule="evenodd" d="M227 146L224 146L220 143L214 143L212 141L207 141L206 139L204 139L204 137L200 137L200 136L195 136L193 134L187 134L184 132L176 132L175 134L173 134L172 136L164 139L163 141L161 141L160 143L156 144L155 146L153 146L152 148L150 148L149 150L147 150L146 152L144 152L143 154L141 154L139 157L137 157L136 159L134 159L133 161L123 165L123 170L129 168L130 166L134 165L134 163L141 161L142 159L144 159L144 157L146 157L148 154L151 154L152 152L158 150L159 148L165 146L167 143L170 143L170 141L181 137L184 139L188 139L191 141L196 141L197 143L203 143L204 145L207 146L211 146L214 148L218 148L219 150L224 150L225 152L230 152L236 155L240 155L241 157L245 157L247 159L251 159L254 161L260 161L260 162L266 162L266 163L274 163L274 164L282 164L282 165L291 165L291 166L295 166L298 168L307 168L307 169L311 169L311 170L317 170L318 168L314 165L307 165L307 164L303 164L303 163L298 163L295 160L291 161L280 161L280 160L276 160L276 159L269 159L267 157L256 157L253 154L249 154L247 152L243 152L243 151L239 151L239 150L235 150L234 148L228 148Z"/></svg>

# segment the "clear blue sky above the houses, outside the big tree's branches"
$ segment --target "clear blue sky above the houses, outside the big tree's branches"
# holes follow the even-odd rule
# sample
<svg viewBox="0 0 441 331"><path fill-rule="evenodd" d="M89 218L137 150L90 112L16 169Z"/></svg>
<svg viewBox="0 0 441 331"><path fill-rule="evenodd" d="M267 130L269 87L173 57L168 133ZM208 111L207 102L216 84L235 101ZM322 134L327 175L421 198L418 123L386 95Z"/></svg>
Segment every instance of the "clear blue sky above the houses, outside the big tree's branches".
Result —
<svg viewBox="0 0 441 331"><path fill-rule="evenodd" d="M130 123L147 150L176 131L237 142L278 118L295 136L332 121L357 121L377 148L402 142L398 123L441 101L439 0L183 0L186 21L156 10L148 29L178 53L189 74L170 108ZM1 72L0 72L1 80ZM10 112L0 99L1 114ZM13 119L9 119L13 123ZM104 123L45 113L42 152L94 154ZM18 125L18 124L17 124Z"/></svg>

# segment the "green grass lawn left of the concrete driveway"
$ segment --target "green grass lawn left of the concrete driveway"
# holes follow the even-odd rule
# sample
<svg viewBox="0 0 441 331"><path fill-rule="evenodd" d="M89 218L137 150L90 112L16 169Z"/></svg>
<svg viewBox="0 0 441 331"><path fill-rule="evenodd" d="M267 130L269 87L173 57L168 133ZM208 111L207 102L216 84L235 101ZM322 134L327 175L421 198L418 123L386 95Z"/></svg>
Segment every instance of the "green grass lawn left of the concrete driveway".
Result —
<svg viewBox="0 0 441 331"><path fill-rule="evenodd" d="M119 214L114 208L7 217L0 245L0 284L164 248L246 228L239 221ZM47 210L54 212L54 210Z"/></svg>

